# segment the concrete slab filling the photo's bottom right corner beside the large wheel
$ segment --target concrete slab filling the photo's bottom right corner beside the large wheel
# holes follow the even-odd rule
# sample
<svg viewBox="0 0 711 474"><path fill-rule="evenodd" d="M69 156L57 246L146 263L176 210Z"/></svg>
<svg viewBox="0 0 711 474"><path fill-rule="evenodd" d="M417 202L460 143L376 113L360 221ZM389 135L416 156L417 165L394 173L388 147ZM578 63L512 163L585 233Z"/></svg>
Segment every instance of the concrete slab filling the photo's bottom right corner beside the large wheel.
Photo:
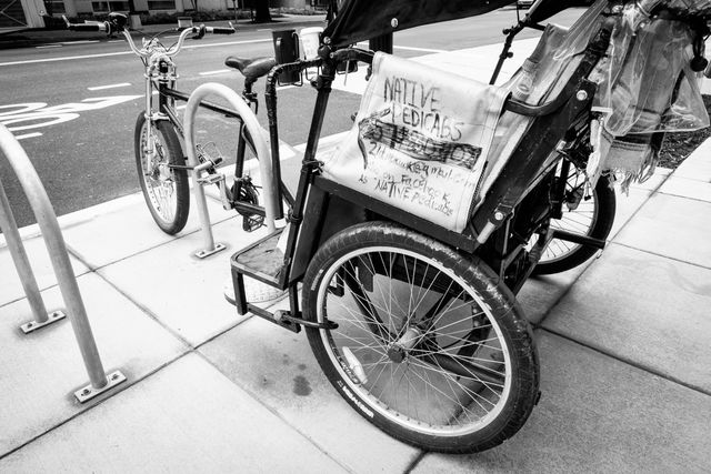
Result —
<svg viewBox="0 0 711 474"><path fill-rule="evenodd" d="M434 473L703 473L711 399L574 342L537 332L540 403L521 431L484 453L428 454Z"/></svg>

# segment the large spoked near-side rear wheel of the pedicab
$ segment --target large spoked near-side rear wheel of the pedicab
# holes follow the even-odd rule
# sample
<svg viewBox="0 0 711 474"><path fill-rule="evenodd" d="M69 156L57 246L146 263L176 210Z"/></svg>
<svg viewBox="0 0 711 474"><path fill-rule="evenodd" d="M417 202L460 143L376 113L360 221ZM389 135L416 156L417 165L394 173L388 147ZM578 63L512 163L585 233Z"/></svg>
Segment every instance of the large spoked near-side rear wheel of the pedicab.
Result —
<svg viewBox="0 0 711 474"><path fill-rule="evenodd" d="M533 410L539 363L530 325L481 261L399 225L368 222L319 249L302 294L308 321L338 324L307 327L323 373L389 435L428 451L472 453L511 437ZM420 307L425 300L429 311Z"/></svg>

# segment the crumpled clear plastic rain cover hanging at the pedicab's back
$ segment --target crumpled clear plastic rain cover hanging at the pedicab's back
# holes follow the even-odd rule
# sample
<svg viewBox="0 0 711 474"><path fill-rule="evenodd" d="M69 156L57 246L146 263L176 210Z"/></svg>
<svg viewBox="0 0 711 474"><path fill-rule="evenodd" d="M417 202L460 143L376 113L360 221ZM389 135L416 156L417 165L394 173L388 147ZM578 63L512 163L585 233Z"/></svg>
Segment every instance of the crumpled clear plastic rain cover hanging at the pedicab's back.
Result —
<svg viewBox="0 0 711 474"><path fill-rule="evenodd" d="M611 171L625 189L653 172L662 138L657 132L709 125L699 73L691 69L694 56L703 56L703 41L689 17L707 17L711 0L641 0L619 8L607 58L590 78L600 84L594 105L602 119L592 127L588 174L594 182Z"/></svg>

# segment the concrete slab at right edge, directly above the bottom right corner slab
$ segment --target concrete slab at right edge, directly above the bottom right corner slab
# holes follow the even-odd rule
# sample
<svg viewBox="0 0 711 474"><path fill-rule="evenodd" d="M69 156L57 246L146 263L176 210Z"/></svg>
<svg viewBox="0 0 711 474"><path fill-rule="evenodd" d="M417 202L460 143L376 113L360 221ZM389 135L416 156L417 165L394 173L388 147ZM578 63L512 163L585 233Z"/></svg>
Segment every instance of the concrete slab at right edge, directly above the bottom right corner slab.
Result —
<svg viewBox="0 0 711 474"><path fill-rule="evenodd" d="M711 393L710 283L709 269L612 244L543 327Z"/></svg>

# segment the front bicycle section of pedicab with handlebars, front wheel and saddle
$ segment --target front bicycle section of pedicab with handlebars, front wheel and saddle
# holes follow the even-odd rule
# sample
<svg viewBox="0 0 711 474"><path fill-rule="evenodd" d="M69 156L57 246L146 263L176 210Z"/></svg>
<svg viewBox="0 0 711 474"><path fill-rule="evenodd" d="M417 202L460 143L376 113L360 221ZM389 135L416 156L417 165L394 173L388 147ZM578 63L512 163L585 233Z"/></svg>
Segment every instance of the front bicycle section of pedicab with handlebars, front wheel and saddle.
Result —
<svg viewBox="0 0 711 474"><path fill-rule="evenodd" d="M66 19L64 19L66 20ZM249 131L244 127L242 115L232 109L211 102L203 102L201 107L223 117L234 119L238 129L238 141L234 163L234 182L227 185L224 174L217 171L223 162L223 157L211 143L198 145L199 169L186 164L186 153L181 140L184 139L182 120L176 110L176 101L188 101L190 95L177 89L177 67L172 58L182 49L183 42L190 36L202 38L206 33L232 34L234 29L206 27L190 27L180 32L178 40L171 47L164 47L159 36L143 40L141 48L134 43L129 29L128 19L121 13L110 13L102 23L69 23L71 30L104 31L108 34L120 32L126 38L131 51L138 56L144 65L144 110L136 120L134 153L139 174L139 183L143 198L158 226L168 234L180 232L190 212L190 188L188 172L204 173L201 184L214 184L219 189L220 200L224 209L234 209L243 216L243 229L253 231L262 226L264 211L259 206L259 190L250 175L244 174L244 162L256 158L257 152ZM167 32L174 31L168 30ZM159 33L160 34L160 33ZM272 58L244 59L228 57L226 65L240 71L244 75L244 88L241 98L257 112L259 108L258 94L253 85L260 77L266 75L274 65ZM157 92L157 102L153 93ZM287 204L293 203L286 184L282 193ZM283 205L283 204L281 204Z"/></svg>

